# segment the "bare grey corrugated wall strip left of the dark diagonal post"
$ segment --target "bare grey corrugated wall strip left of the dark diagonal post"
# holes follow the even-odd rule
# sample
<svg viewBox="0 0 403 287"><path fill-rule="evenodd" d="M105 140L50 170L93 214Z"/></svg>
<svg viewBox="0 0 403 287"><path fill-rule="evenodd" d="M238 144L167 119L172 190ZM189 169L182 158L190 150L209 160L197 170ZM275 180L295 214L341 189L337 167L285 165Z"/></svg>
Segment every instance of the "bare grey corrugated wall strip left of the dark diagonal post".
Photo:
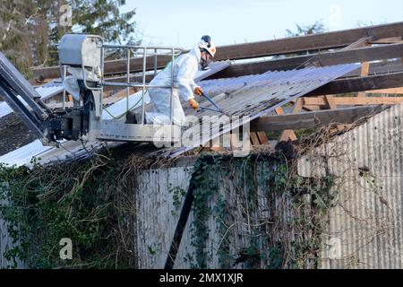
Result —
<svg viewBox="0 0 403 287"><path fill-rule="evenodd" d="M167 259L171 240L176 229L179 212L175 212L169 187L181 187L187 190L191 170L189 168L171 168L169 170L144 170L139 176L139 197L137 246L140 268L163 268ZM185 230L184 234L190 233ZM187 246L186 236L181 247ZM181 248L178 258L184 258L186 248ZM179 261L177 266L182 267Z"/></svg>

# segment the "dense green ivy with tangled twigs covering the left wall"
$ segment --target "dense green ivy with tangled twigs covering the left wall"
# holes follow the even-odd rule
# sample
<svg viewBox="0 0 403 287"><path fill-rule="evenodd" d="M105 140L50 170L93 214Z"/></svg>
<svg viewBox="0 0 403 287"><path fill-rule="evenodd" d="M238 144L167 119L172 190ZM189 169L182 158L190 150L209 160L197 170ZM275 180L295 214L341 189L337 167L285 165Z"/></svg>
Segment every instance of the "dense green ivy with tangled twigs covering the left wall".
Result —
<svg viewBox="0 0 403 287"><path fill-rule="evenodd" d="M136 184L132 158L104 151L88 161L32 169L0 165L0 216L13 242L4 257L31 268L136 266L133 236ZM129 164L130 163L130 164ZM131 177L132 175L133 177ZM61 239L73 241L73 260L62 260Z"/></svg>

